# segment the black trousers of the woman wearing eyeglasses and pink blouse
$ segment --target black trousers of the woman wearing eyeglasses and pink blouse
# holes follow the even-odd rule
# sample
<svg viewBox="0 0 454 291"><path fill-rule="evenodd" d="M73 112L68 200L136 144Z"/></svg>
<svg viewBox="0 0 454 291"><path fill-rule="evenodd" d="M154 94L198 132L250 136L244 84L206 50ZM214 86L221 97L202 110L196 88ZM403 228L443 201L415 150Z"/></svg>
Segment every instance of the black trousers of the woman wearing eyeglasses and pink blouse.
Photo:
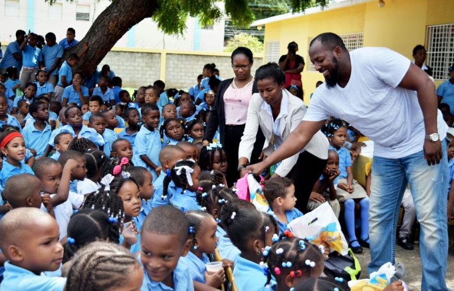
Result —
<svg viewBox="0 0 454 291"><path fill-rule="evenodd" d="M223 148L227 158L227 173L226 179L229 187L233 186L239 179L239 174L237 171L238 168L238 149L239 143L241 142L241 137L245 131L245 124L242 125L226 125L225 126L225 136ZM251 164L256 164L259 162L259 156L263 149L263 144L265 143L265 137L263 136L262 131L257 132L256 141L254 144L254 149L251 154Z"/></svg>

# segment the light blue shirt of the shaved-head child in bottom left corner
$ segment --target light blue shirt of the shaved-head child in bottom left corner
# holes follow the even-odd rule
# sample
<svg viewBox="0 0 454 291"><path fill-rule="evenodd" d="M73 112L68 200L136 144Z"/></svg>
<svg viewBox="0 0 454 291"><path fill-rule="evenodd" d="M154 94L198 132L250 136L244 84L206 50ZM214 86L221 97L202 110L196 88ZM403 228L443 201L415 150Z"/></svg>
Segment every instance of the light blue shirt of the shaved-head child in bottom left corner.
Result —
<svg viewBox="0 0 454 291"><path fill-rule="evenodd" d="M0 291L63 291L66 278L38 276L31 271L5 263L5 273Z"/></svg>

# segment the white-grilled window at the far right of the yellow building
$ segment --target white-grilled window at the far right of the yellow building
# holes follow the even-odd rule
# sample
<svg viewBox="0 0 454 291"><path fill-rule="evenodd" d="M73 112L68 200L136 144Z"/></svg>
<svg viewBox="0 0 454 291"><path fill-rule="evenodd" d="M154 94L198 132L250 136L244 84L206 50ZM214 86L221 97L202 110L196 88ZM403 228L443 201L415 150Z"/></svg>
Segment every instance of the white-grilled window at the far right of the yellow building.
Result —
<svg viewBox="0 0 454 291"><path fill-rule="evenodd" d="M448 68L454 62L454 23L427 26L427 64L435 80L449 78Z"/></svg>

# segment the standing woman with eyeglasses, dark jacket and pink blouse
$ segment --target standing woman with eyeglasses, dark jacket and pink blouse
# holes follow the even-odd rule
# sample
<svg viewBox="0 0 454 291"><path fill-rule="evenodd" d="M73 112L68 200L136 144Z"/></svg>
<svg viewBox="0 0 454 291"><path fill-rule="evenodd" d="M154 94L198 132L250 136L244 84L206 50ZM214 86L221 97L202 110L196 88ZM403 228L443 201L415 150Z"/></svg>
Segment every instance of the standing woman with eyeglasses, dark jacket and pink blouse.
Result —
<svg viewBox="0 0 454 291"><path fill-rule="evenodd" d="M238 148L245 130L246 116L252 94L257 93L257 84L251 75L254 62L252 51L246 47L236 48L231 55L234 78L222 81L217 90L215 105L211 110L203 138L204 145L213 140L219 126L220 142L227 156L227 183L231 186L239 178ZM251 155L251 163L259 160L263 137L260 128Z"/></svg>

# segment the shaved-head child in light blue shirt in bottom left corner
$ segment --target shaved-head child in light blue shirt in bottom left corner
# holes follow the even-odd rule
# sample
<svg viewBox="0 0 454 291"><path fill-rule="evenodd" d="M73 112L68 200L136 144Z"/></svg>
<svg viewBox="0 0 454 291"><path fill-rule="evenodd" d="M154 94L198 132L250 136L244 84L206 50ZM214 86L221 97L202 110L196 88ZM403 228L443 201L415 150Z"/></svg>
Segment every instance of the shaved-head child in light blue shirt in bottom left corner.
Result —
<svg viewBox="0 0 454 291"><path fill-rule="evenodd" d="M57 221L44 211L25 207L8 212L0 220L0 247L7 253L1 291L62 291L66 278L46 277L44 271L56 271L63 258L58 241ZM49 243L43 244L46 240ZM14 250L20 249L20 255ZM41 274L41 275L37 275Z"/></svg>

